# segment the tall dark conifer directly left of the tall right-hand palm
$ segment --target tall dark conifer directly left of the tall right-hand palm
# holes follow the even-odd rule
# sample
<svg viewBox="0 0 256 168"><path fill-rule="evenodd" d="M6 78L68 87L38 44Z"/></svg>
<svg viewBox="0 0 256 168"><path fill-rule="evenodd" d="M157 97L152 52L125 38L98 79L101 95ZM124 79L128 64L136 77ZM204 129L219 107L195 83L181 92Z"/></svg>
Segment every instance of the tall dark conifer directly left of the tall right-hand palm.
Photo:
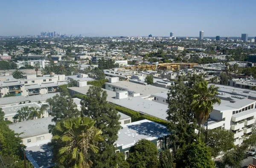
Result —
<svg viewBox="0 0 256 168"><path fill-rule="evenodd" d="M168 103L169 109L166 112L169 120L168 129L171 132L170 144L173 145L176 153L178 147L190 143L196 137L195 129L197 128L194 112L190 106L191 92L181 77L170 87Z"/></svg>

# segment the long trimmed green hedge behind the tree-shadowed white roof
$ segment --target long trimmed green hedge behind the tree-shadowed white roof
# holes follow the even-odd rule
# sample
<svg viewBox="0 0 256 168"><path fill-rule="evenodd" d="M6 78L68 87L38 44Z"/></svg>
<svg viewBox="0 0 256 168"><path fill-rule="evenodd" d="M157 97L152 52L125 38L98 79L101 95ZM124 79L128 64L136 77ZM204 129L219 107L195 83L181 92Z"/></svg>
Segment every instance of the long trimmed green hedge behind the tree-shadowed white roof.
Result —
<svg viewBox="0 0 256 168"><path fill-rule="evenodd" d="M153 121L155 123L160 123L164 126L168 126L168 121L166 121L166 120L161 120L159 118L155 118L155 117L150 116L150 115L144 115L144 114L140 115L139 112L136 112L134 110L131 110L131 109L128 109L128 108L125 108L125 107L122 107L122 106L116 106L116 110L119 111L119 112L122 112L125 115L130 116L131 117L131 122L146 119L146 120Z"/></svg>

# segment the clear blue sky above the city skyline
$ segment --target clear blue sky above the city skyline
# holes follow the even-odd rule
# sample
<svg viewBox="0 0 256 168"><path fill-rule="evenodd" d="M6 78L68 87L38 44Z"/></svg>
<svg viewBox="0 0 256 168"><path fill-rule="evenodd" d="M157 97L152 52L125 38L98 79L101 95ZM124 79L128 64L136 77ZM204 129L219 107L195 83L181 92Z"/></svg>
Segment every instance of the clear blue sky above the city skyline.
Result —
<svg viewBox="0 0 256 168"><path fill-rule="evenodd" d="M256 0L1 0L0 36L256 36Z"/></svg>

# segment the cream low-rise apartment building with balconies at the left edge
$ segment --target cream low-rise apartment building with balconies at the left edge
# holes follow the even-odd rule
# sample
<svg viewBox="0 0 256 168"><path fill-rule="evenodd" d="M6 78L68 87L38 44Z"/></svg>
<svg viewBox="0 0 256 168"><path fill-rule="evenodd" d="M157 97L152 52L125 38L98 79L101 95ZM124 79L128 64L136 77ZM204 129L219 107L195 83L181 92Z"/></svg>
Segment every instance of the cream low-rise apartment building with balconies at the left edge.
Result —
<svg viewBox="0 0 256 168"><path fill-rule="evenodd" d="M67 84L69 80L65 75L36 75L24 76L24 79L15 79L12 76L5 76L4 81L0 81L0 98L10 93L15 96L38 95L50 92L57 92L58 86Z"/></svg>

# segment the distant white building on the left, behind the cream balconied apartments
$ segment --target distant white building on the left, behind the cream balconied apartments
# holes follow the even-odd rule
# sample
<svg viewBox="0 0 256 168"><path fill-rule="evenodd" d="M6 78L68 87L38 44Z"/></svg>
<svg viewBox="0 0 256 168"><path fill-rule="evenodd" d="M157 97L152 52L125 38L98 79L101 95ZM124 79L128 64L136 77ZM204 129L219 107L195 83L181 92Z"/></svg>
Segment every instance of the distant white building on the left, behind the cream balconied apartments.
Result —
<svg viewBox="0 0 256 168"><path fill-rule="evenodd" d="M50 66L50 61L48 60L29 60L29 61L17 61L15 62L17 64L17 68L25 67L26 65L31 65L35 67L35 65L39 65L40 70L43 70L43 68Z"/></svg>

